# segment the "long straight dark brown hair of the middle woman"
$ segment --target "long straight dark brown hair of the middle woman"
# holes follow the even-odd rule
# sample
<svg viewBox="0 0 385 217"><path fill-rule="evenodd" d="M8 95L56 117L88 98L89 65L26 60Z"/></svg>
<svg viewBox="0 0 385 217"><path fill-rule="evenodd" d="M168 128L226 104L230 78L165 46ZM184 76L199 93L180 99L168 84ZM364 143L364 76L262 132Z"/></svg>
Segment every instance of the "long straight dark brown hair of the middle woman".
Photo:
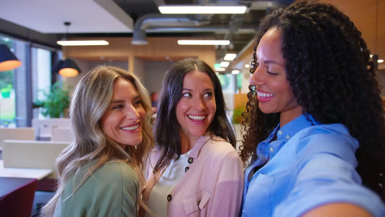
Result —
<svg viewBox="0 0 385 217"><path fill-rule="evenodd" d="M162 170L174 159L181 155L181 137L179 123L176 119L176 104L182 97L183 78L191 71L206 73L214 85L216 112L207 131L226 139L233 147L236 145L234 127L226 116L221 83L214 70L205 62L198 59L184 59L172 66L166 74L159 95L158 114L155 125L155 142L161 149L161 156L154 166L154 172Z"/></svg>

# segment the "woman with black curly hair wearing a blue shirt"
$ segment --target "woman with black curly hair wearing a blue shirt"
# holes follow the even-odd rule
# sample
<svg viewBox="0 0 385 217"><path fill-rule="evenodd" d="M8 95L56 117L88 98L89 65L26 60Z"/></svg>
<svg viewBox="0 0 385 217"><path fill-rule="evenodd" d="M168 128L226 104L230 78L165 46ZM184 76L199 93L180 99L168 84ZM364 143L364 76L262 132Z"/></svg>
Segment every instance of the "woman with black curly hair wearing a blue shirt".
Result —
<svg viewBox="0 0 385 217"><path fill-rule="evenodd" d="M385 216L385 120L361 32L301 1L261 20L255 51L241 216Z"/></svg>

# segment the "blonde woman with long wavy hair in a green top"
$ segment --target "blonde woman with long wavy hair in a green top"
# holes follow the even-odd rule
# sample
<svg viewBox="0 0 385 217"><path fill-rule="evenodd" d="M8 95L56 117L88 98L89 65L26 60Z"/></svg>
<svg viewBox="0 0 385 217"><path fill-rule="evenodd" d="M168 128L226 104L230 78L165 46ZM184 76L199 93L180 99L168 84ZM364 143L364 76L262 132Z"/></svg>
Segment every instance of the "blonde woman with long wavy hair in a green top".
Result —
<svg viewBox="0 0 385 217"><path fill-rule="evenodd" d="M154 142L149 93L132 73L99 66L70 102L74 141L57 158L59 187L46 217L137 216L142 159ZM147 208L145 208L147 210Z"/></svg>

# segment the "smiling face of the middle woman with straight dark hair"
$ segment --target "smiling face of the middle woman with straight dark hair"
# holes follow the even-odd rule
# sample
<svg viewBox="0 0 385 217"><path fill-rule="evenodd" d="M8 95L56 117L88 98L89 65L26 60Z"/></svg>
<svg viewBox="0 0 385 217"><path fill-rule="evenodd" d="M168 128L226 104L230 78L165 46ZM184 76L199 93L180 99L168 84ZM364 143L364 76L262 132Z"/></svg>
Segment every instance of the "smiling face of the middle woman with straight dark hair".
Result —
<svg viewBox="0 0 385 217"><path fill-rule="evenodd" d="M210 77L191 71L183 78L182 98L176 105L176 119L187 137L199 137L213 121L216 111L214 85Z"/></svg>

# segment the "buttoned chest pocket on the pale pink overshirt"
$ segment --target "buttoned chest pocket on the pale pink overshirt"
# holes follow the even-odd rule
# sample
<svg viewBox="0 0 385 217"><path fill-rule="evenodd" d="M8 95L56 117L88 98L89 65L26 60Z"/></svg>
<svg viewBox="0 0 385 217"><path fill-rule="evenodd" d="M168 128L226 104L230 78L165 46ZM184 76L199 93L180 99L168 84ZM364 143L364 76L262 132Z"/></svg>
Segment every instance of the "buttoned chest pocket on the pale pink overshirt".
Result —
<svg viewBox="0 0 385 217"><path fill-rule="evenodd" d="M204 209L206 209L206 204L208 204L210 197L211 194L204 189L182 197L183 210L186 212L186 215L194 217L200 216L201 211L205 212Z"/></svg>

